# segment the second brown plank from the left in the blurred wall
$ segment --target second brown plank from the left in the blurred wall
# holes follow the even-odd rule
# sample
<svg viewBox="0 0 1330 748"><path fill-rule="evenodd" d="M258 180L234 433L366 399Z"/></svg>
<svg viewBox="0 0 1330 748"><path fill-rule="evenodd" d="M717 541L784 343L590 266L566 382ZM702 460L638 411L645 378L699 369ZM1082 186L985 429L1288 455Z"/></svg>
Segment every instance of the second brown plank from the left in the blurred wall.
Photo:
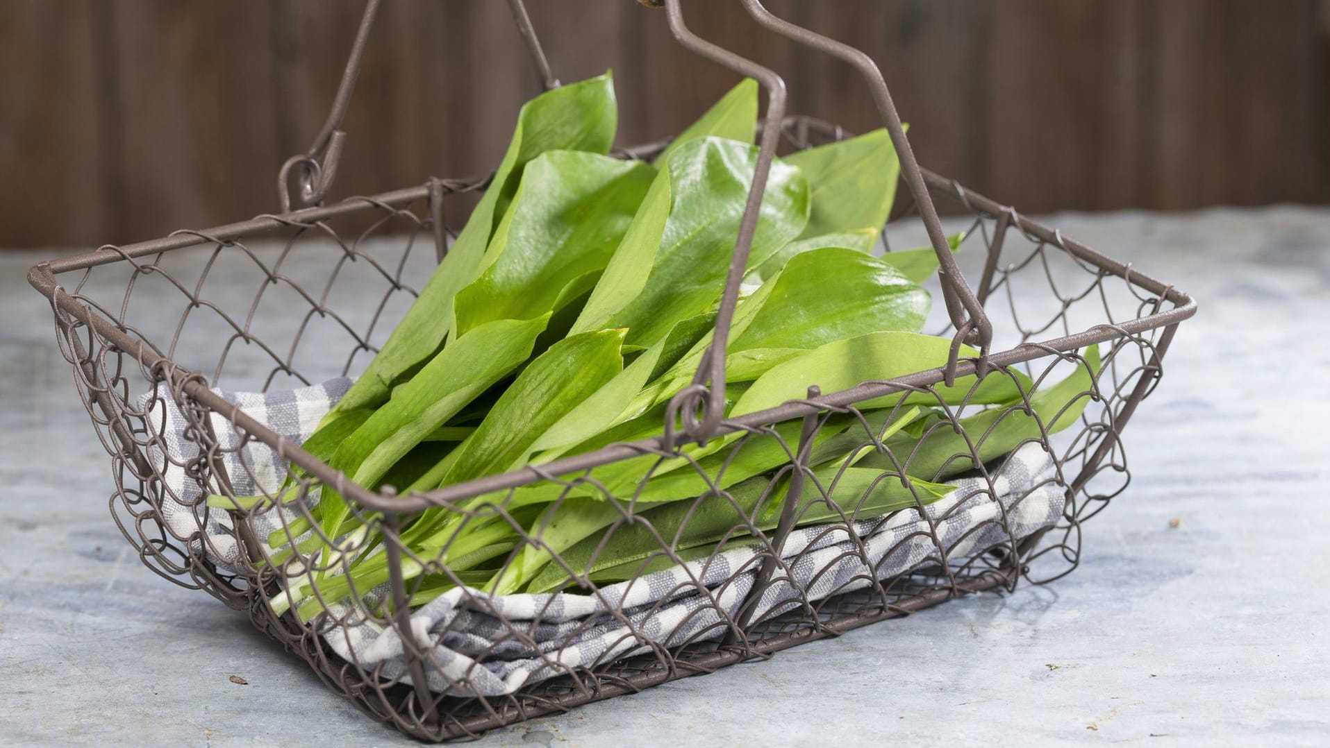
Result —
<svg viewBox="0 0 1330 748"><path fill-rule="evenodd" d="M129 242L275 207L270 31L258 3L105 5Z"/></svg>

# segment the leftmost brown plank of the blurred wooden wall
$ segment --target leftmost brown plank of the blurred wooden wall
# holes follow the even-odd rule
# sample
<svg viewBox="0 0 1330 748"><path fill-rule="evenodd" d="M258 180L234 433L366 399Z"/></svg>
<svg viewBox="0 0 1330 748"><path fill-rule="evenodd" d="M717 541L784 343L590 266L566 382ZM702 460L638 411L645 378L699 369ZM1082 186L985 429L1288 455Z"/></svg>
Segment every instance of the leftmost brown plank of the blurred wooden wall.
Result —
<svg viewBox="0 0 1330 748"><path fill-rule="evenodd" d="M0 242L94 242L106 213L90 1L0 4Z"/></svg>

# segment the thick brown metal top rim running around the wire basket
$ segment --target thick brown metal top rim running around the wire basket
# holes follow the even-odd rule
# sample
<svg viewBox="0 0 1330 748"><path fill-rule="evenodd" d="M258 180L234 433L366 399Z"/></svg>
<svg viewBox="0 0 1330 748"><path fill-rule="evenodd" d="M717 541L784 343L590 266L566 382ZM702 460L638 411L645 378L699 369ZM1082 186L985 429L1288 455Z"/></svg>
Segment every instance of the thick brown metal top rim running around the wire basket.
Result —
<svg viewBox="0 0 1330 748"><path fill-rule="evenodd" d="M783 124L789 125L791 122L795 125L810 122L814 126L823 125L821 121L811 117L787 117ZM654 146L657 146L657 143L629 149L626 153L628 155L634 155L638 151L649 151ZM1160 304L1164 302L1173 304L1172 308L1157 308L1145 316L1127 320L1120 324L1097 324L1080 332L1047 340L1027 341L1005 351L991 352L987 359L990 368L1004 369L1007 367L1045 356L1064 356L1069 351L1084 348L1095 343L1107 343L1113 339L1138 336L1144 332L1165 327L1172 328L1173 326L1177 326L1178 323L1196 315L1197 303L1185 291L1137 271L1130 263L1121 263L1089 248L1085 244L1081 244L1080 242L1068 239L1063 236L1060 230L1049 229L1036 221L1032 221L1017 213L1012 206L1001 205L991 198L970 191L955 179L942 177L927 169L923 170L923 175L930 190L935 190L959 201L974 213L996 218L1003 230L1015 229L1031 239L1053 244L1087 264L1107 272L1108 275L1121 278L1128 284L1156 295L1160 299ZM281 227L313 225L315 222L339 215L354 214L368 207L392 207L407 205L428 198L431 189L442 187L446 194L471 191L483 187L488 179L488 177L447 181L430 179L420 186L392 190L370 197L350 197L329 206L307 207L285 214L262 214L243 222L227 223L197 231L176 231L158 239L150 239L122 247L102 246L89 252L37 263L28 271L28 283L47 296L53 310L61 311L70 318L88 324L97 332L97 335L104 336L125 353L134 356L140 365L145 369L158 372L158 376L161 376L162 380L172 381L172 384L178 387L184 395L197 400L210 411L219 413L234 426L243 429L254 438L271 446L277 450L279 457L299 465L318 481L336 486L338 492L343 497L355 501L371 512L383 512L386 514L396 515L420 512L431 506L447 506L454 502L487 493L527 485L537 480L548 478L549 476L581 473L610 462L638 457L644 453L658 453L662 449L670 449L673 446L673 440L664 433L665 428L662 424L660 436L640 441L612 444L593 452L572 457L561 457L540 465L539 468L524 465L515 470L484 476L463 484L408 496L371 490L355 484L340 470L332 469L325 461L314 457L302 448L295 446L263 424L245 415L235 404L226 401L219 395L213 392L207 385L206 377L180 367L169 357L158 355L138 340L134 340L113 320L69 295L56 280L56 275L64 272L85 270L116 262L128 262L144 255L161 254L201 243L225 243L241 236L263 234ZM1170 331L1166 331L1165 335L1170 335ZM958 361L955 369L958 376L968 376L976 372L976 359L963 357ZM737 419L726 419L722 421L716 437L737 430L751 430L754 428L773 425L829 408L845 408L858 401L882 397L906 389L934 385L943 381L944 377L944 368L939 367L887 381L861 384L850 389L825 393L813 399L791 400L774 408L739 416Z"/></svg>

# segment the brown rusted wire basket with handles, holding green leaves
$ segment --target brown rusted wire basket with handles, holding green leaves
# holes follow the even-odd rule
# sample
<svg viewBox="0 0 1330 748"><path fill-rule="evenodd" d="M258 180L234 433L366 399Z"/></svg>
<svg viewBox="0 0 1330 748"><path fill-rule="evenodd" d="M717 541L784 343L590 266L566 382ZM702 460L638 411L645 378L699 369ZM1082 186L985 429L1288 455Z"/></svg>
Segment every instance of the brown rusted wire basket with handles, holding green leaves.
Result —
<svg viewBox="0 0 1330 748"><path fill-rule="evenodd" d="M547 85L557 85L525 11L516 0L512 5L537 70ZM766 163L778 141L803 149L843 137L833 125L785 117L783 84L774 74L692 36L677 1L665 5L676 39L777 93L762 126ZM763 27L851 60L874 86L910 187L904 213L919 217L892 222L884 239L888 248L900 246L910 227L922 225L922 240L939 248L947 304L938 324L956 329L946 367L833 393L814 388L805 399L732 420L721 419L724 405L714 403L725 392L724 369L700 371L654 438L426 494L399 497L351 484L299 448L299 425L283 432L263 417L273 399L237 392L326 395L330 385L321 383L363 368L414 299L414 286L447 251L448 223L464 209L459 201L487 182L431 179L322 205L344 138L340 112L376 8L371 1L329 125L309 153L283 166L279 215L106 246L29 272L51 300L78 396L112 457L112 513L144 563L246 610L329 688L430 740L712 672L960 594L1009 590L1021 578L1044 582L1075 567L1081 523L1128 484L1123 429L1162 375L1164 353L1194 303L1012 207L918 169L871 62L766 15L755 0L745 5ZM620 155L648 158L661 147ZM293 175L309 207L290 210ZM754 182L761 195L761 179ZM966 217L958 222L968 231L956 256L974 264L968 272L942 248L934 201ZM739 270L750 239L751 229L747 238L741 231ZM976 274L971 292L966 278ZM733 312L737 284L730 278L722 315L726 304ZM717 328L721 349L725 327ZM962 341L978 343L982 355L958 355ZM984 383L1003 380L1020 388L1020 401L986 409ZM1040 393L1059 381L1075 383L1072 405L1041 411ZM971 383L959 405L943 396L956 383ZM892 396L895 405L882 409ZM297 421L321 415L305 395L279 399ZM923 441L914 442L938 446L902 450L883 436L870 403L888 421L911 403L939 405L946 416L924 424ZM878 457L871 484L849 502L837 493L849 465L814 469L814 434L833 421L846 424L851 442ZM998 454L986 448L1001 429L1023 429L1021 446ZM721 440L721 449L689 458L685 448L706 440ZM725 472L761 450L775 450L782 464L755 486L746 484L753 496L745 504ZM686 464L664 472L678 461ZM295 501L243 513L203 500L271 496L291 464L306 476L297 481ZM698 498L672 515L652 513L636 504L636 490L616 493L595 478L593 469L605 465L640 466L638 486L682 474L701 486ZM907 472L955 476L956 489L944 502L926 506L915 497L911 506L871 512L879 486L914 490L902 480ZM319 531L311 509L321 484L339 488L354 522L382 533L384 565L375 585L350 585L336 595L315 589L327 599L302 620L273 601L302 574L338 562L305 555L298 546L285 550L274 537L298 541ZM463 529L512 527L521 534L519 546L547 547L552 530L532 525L515 498L533 485L555 486L556 502L595 497L614 519L589 555L551 554L549 569L564 577L551 587L555 594L496 599L468 587L450 563L462 551L451 543L460 542ZM403 518L435 506L446 508L459 530L438 553L418 555L400 538ZM621 535L654 550L626 566L596 567L597 553ZM344 541L342 563L368 541L355 542ZM497 562L512 563L516 550L500 553ZM446 591L427 608L448 615L422 624L406 601L422 599L431 585ZM575 615L573 603L587 610ZM366 631L376 639L366 639ZM523 664L509 667L513 662Z"/></svg>

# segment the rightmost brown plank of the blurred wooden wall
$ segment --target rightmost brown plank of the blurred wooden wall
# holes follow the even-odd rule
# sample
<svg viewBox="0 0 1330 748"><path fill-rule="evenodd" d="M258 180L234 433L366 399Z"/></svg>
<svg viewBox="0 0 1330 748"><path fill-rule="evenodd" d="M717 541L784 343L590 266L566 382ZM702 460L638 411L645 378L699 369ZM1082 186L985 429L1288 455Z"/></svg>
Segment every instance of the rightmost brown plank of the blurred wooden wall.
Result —
<svg viewBox="0 0 1330 748"><path fill-rule="evenodd" d="M1325 29L1315 0L1150 4L1152 179L1161 209L1323 199Z"/></svg>

